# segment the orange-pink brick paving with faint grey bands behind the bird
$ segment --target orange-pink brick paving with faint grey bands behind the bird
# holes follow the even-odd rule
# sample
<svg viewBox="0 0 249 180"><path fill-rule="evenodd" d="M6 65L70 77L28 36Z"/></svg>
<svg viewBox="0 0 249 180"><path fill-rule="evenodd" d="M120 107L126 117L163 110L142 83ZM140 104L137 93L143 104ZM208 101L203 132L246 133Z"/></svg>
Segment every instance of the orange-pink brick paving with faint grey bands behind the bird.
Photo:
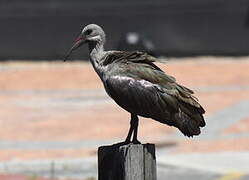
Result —
<svg viewBox="0 0 249 180"><path fill-rule="evenodd" d="M209 117L249 100L249 58L202 57L169 61L160 67L180 84L195 89ZM5 62L0 68L0 140L6 142L75 142L123 139L129 114L110 100L88 63ZM249 118L249 117L248 117ZM141 118L139 136L158 144L175 141L172 153L248 151L249 119L222 129L228 139L199 140L174 128ZM225 119L222 121L225 122ZM208 126L208 122L207 122ZM249 133L248 133L249 134ZM1 148L0 161L87 157L95 148Z"/></svg>

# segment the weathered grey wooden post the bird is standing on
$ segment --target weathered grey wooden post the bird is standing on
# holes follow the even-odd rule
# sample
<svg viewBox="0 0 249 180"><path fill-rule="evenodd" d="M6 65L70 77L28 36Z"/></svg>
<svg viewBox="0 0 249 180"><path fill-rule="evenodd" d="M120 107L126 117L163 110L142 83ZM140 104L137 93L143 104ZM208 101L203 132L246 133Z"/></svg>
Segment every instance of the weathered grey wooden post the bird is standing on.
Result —
<svg viewBox="0 0 249 180"><path fill-rule="evenodd" d="M156 180L154 144L122 143L98 149L98 180Z"/></svg>

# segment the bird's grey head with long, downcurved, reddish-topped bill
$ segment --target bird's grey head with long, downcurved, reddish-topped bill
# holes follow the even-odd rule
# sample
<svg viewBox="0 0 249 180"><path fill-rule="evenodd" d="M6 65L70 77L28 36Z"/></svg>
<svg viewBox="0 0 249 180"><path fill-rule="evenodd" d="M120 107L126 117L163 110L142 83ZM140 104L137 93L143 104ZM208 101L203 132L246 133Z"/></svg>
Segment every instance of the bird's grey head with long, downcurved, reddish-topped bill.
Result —
<svg viewBox="0 0 249 180"><path fill-rule="evenodd" d="M96 24L89 24L86 27L84 27L78 38L76 38L72 48L68 51L64 61L67 60L67 58L74 50L78 49L81 45L85 43L104 44L105 32L100 26Z"/></svg>

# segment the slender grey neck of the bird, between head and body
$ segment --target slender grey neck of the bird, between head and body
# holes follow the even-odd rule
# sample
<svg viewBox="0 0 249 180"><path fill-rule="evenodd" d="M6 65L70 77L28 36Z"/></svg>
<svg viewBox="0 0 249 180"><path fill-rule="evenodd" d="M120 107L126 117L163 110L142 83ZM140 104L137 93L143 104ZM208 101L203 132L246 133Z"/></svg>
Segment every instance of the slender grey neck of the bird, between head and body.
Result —
<svg viewBox="0 0 249 180"><path fill-rule="evenodd" d="M104 42L89 42L90 51L90 61L93 65L94 70L99 76L103 73L103 67L101 66L101 61L105 55Z"/></svg>

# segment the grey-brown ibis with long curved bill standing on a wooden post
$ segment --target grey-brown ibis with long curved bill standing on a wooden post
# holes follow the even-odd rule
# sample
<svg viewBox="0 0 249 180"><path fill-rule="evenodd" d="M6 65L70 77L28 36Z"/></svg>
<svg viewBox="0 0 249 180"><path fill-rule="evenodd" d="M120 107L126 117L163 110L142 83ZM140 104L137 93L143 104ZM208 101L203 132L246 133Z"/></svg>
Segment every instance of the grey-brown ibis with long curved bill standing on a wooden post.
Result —
<svg viewBox="0 0 249 180"><path fill-rule="evenodd" d="M194 92L177 83L160 69L158 58L140 51L106 51L102 27L89 24L83 28L65 61L73 51L88 44L90 62L107 94L130 113L130 128L124 143L140 144L138 116L151 118L178 128L187 137L197 136L206 125L204 108Z"/></svg>

